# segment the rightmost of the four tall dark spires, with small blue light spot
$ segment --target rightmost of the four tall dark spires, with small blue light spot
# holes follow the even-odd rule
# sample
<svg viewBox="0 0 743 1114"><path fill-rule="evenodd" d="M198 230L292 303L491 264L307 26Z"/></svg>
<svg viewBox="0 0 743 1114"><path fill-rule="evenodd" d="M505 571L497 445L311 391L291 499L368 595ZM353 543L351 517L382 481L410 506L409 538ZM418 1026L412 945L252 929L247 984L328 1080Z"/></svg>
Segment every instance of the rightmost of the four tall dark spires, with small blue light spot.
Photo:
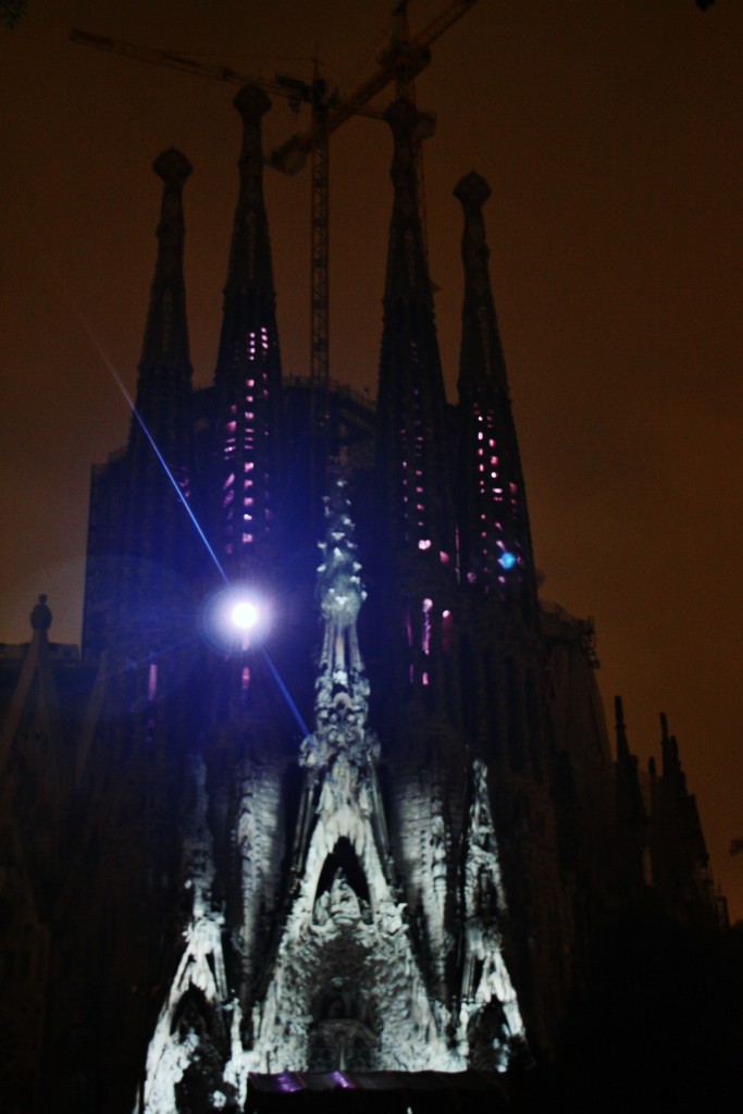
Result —
<svg viewBox="0 0 743 1114"><path fill-rule="evenodd" d="M471 173L458 183L454 196L465 216L457 469L462 577L488 592L497 590L510 606L520 600L521 617L534 623L536 577L529 519L482 219L490 187Z"/></svg>

